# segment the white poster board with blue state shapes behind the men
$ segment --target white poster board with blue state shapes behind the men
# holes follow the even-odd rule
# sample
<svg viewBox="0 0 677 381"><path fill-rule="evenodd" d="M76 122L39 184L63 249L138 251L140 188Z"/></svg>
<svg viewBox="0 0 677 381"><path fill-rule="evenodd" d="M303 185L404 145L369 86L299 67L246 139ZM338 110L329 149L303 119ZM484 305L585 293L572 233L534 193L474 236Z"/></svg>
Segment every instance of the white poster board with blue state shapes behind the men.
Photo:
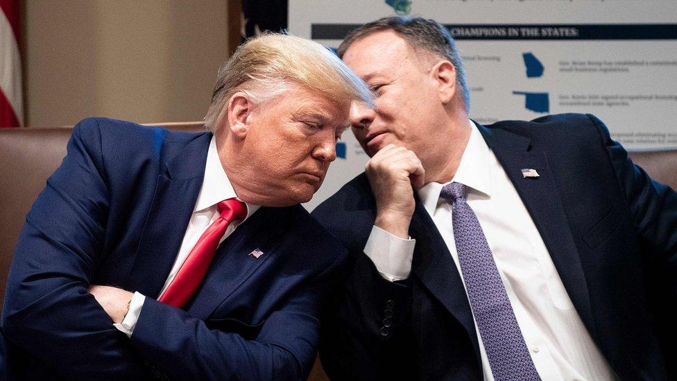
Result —
<svg viewBox="0 0 677 381"><path fill-rule="evenodd" d="M677 147L676 0L290 0L289 32L336 47L396 14L449 28L480 124L583 112L626 149ZM337 148L310 209L363 171L350 133Z"/></svg>

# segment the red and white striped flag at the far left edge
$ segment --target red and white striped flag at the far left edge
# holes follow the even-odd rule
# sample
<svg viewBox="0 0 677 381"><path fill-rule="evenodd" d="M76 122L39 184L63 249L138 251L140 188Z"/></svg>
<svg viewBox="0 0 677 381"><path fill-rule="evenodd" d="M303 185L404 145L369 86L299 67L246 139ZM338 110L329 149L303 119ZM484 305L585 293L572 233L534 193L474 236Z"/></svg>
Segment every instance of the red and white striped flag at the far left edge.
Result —
<svg viewBox="0 0 677 381"><path fill-rule="evenodd" d="M24 124L19 0L0 0L0 127Z"/></svg>

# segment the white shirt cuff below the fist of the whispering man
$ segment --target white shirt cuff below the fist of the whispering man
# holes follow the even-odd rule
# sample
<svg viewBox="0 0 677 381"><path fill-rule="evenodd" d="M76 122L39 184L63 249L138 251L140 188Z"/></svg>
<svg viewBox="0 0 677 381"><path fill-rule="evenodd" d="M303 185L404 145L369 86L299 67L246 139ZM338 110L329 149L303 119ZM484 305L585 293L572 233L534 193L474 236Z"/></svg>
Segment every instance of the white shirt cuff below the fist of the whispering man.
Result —
<svg viewBox="0 0 677 381"><path fill-rule="evenodd" d="M391 282L409 278L415 239L402 239L373 226L364 253L376 265L381 276Z"/></svg>

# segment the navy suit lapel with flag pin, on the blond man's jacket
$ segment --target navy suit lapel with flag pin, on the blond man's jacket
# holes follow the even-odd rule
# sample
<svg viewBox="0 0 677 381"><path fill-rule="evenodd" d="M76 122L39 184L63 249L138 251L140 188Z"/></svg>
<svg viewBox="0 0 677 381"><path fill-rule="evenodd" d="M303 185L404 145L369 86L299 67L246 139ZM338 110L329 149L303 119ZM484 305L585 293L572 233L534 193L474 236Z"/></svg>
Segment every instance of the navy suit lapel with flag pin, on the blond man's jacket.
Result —
<svg viewBox="0 0 677 381"><path fill-rule="evenodd" d="M198 319L207 319L262 264L273 261L275 248L282 242L284 230L280 214L286 208L261 208L218 246L216 256L200 289L186 310ZM249 255L259 249L260 257ZM249 279L252 282L256 281ZM262 280L263 281L263 280Z"/></svg>

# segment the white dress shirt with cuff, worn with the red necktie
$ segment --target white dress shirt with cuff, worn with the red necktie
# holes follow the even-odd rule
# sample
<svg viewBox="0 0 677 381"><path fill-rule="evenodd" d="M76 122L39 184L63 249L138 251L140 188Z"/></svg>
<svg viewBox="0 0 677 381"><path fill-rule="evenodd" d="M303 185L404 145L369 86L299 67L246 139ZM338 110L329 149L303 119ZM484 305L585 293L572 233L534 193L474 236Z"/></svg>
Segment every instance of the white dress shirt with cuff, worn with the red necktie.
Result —
<svg viewBox="0 0 677 381"><path fill-rule="evenodd" d="M179 272L179 269L181 269L183 262L186 260L203 232L207 230L212 222L218 219L220 213L218 212L216 204L228 198L237 198L237 194L235 194L232 184L223 170L221 160L218 158L218 153L216 152L216 137L212 137L212 141L209 142L209 151L207 151L205 179L200 188L193 214L188 223L188 228L186 229L183 241L181 242L181 248L179 249L178 255L171 267L171 271L169 271L169 276L164 282L164 286L162 287L162 291L160 291L160 296L158 296L158 298L160 298L167 287L169 287L169 284ZM247 217L242 221L230 223L228 229L225 230L225 234L221 237L219 244L231 235L237 226L241 225L241 223L246 221L246 219L260 208L259 205L246 205ZM137 319L139 319L139 314L141 314L142 307L144 306L144 300L146 300L146 296L135 292L129 304L129 311L126 314L125 319L122 323L114 324L115 328L124 332L128 337L131 337Z"/></svg>

